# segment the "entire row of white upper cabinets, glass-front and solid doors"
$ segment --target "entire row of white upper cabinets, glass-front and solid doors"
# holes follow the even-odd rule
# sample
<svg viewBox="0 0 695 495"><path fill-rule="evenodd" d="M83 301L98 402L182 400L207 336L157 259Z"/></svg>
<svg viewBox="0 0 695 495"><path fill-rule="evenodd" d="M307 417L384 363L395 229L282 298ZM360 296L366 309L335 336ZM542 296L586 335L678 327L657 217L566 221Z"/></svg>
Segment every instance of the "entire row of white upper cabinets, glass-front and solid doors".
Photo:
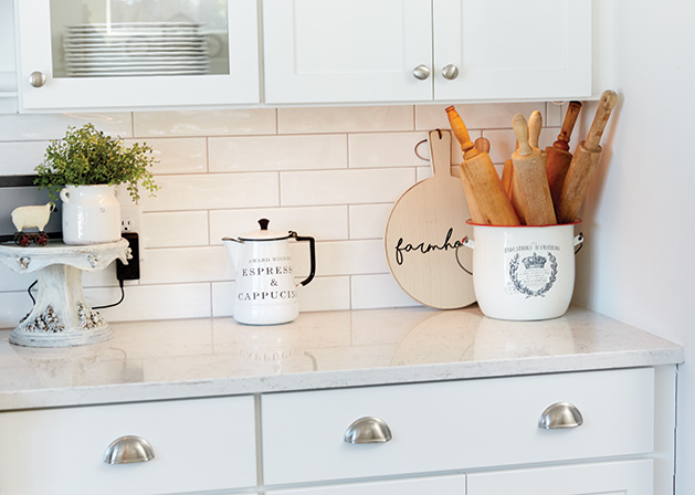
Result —
<svg viewBox="0 0 695 495"><path fill-rule="evenodd" d="M597 2L14 0L6 92L27 113L585 99L608 87Z"/></svg>

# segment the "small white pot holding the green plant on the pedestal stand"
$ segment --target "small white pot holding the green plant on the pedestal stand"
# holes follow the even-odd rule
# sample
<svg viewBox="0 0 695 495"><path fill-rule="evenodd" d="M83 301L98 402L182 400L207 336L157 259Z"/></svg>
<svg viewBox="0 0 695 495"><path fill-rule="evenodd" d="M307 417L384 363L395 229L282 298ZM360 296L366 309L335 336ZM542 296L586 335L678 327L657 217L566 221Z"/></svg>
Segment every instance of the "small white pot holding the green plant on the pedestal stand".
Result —
<svg viewBox="0 0 695 495"><path fill-rule="evenodd" d="M120 240L120 203L114 186L66 186L61 200L65 244Z"/></svg>

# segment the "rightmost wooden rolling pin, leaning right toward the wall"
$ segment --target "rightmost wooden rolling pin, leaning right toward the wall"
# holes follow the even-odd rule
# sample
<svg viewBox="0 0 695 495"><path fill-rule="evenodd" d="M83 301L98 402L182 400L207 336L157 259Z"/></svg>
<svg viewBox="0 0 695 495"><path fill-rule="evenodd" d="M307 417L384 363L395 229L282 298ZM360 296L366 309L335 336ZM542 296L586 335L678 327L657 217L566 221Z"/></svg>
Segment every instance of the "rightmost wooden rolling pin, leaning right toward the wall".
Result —
<svg viewBox="0 0 695 495"><path fill-rule="evenodd" d="M583 143L577 145L557 204L557 218L560 223L571 223L577 220L577 214L587 196L589 183L599 165L602 149L599 145L601 136L603 130L606 130L606 125L617 102L618 95L615 92L608 89L601 94L599 108L593 117L589 135Z"/></svg>

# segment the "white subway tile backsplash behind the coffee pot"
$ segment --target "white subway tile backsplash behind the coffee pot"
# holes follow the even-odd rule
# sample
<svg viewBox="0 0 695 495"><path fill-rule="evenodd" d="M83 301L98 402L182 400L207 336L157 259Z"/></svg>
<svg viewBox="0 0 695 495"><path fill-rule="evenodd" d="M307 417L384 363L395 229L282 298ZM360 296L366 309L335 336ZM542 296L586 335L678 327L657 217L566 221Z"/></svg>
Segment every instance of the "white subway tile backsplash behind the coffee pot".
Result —
<svg viewBox="0 0 695 495"><path fill-rule="evenodd" d="M122 305L102 310L112 322L230 316L234 274L221 238L255 230L263 217L271 229L316 238L316 278L299 289L302 310L413 306L389 273L382 235L393 202L431 176L413 150L428 130L449 128L445 107L0 115L0 175L33 173L69 125L92 122L152 147L161 189L140 200L141 278L126 284ZM541 147L556 139L564 115L551 103L456 108L473 139L491 140L499 170L515 147L514 114L543 112ZM419 151L429 156L427 145ZM452 173L460 161L453 139ZM306 243L293 243L292 254L297 276L308 273ZM0 266L0 328L29 313L33 280ZM93 306L120 296L113 265L85 273L83 283Z"/></svg>

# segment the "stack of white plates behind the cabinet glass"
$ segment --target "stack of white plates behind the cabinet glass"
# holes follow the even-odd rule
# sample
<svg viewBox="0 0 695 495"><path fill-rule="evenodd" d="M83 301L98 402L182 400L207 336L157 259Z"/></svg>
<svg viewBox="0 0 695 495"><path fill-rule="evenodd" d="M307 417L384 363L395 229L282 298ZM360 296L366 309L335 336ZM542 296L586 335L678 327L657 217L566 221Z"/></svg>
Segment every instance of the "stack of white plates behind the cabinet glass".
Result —
<svg viewBox="0 0 695 495"><path fill-rule="evenodd" d="M210 72L201 24L118 22L65 28L65 72L72 77L196 75Z"/></svg>

